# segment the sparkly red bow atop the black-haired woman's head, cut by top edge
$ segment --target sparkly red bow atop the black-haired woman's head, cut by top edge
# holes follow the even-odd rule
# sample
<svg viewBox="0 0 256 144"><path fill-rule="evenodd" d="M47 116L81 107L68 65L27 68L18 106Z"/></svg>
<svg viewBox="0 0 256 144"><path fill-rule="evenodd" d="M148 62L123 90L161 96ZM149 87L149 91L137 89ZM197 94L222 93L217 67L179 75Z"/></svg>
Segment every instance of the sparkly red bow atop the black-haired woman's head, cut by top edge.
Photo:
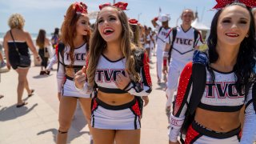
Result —
<svg viewBox="0 0 256 144"><path fill-rule="evenodd" d="M232 3L232 2L241 2L245 4L248 7L255 7L256 1L255 0L215 0L217 2L217 5L214 6L213 9L222 9L226 5Z"/></svg>

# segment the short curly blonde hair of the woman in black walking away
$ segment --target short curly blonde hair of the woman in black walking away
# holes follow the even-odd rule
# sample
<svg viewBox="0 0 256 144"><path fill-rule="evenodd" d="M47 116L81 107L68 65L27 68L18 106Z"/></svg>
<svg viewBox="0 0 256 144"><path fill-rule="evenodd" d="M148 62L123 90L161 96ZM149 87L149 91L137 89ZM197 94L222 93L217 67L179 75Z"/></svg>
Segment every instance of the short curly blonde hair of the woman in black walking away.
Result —
<svg viewBox="0 0 256 144"><path fill-rule="evenodd" d="M21 14L12 14L10 15L10 18L8 20L8 25L10 26L10 29L18 28L23 29L25 24L25 19L22 17Z"/></svg>

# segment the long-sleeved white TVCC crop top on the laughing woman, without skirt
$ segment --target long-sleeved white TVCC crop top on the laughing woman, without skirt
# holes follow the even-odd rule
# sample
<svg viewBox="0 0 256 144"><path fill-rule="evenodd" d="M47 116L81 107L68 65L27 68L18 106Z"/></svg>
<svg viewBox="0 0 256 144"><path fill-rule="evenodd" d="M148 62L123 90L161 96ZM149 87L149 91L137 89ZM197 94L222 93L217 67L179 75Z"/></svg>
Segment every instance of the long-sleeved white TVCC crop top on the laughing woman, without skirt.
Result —
<svg viewBox="0 0 256 144"><path fill-rule="evenodd" d="M142 66L140 67L140 77L141 82L133 82L131 81L124 90L118 88L115 85L115 81L117 78L117 74L125 75L126 69L126 58L120 58L116 61L111 61L106 58L103 54L100 56L98 60L98 65L96 67L94 81L98 87L98 90L110 93L110 94L124 94L130 93L134 96L147 96L150 94L152 90L152 82L150 78L150 66L148 64L148 57L146 53L143 53ZM139 85L139 86L138 86ZM94 87L95 88L95 87ZM79 90L79 89L78 89ZM92 89L88 86L86 82L84 87L79 91L83 94L92 94L95 89Z"/></svg>

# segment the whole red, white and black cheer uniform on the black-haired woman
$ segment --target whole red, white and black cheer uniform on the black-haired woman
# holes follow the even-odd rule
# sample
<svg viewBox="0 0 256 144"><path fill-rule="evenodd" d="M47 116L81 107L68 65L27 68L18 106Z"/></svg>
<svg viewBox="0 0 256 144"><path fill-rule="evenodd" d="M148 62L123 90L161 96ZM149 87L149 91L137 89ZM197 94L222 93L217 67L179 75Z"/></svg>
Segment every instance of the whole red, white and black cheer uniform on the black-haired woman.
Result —
<svg viewBox="0 0 256 144"><path fill-rule="evenodd" d="M235 74L234 72L223 73L211 68L215 75L214 83L210 82L210 72L206 69L206 86L202 95L201 102L198 107L204 110L218 111L218 112L235 112L241 110L242 106L246 104L246 120L245 126L255 127L256 123L253 119L256 118L255 111L253 110L252 103L252 89L245 98L244 95L238 94L235 89ZM185 119L187 110L186 102L190 102L190 94L192 91L193 83L190 82L192 74L192 64L189 63L185 66L180 76L180 83L178 86L178 94L174 102L174 111L170 116L170 133L169 139L171 142L177 141L178 134ZM247 127L248 128L248 127ZM246 129L246 127L244 128ZM229 132L222 133L210 130L198 122L192 122L186 133L185 143L195 144L214 144L214 143L229 143L238 144L241 137L240 126ZM252 130L250 130L250 133ZM255 132L254 132L255 134ZM254 135L255 137L255 135ZM250 142L252 138L250 138Z"/></svg>

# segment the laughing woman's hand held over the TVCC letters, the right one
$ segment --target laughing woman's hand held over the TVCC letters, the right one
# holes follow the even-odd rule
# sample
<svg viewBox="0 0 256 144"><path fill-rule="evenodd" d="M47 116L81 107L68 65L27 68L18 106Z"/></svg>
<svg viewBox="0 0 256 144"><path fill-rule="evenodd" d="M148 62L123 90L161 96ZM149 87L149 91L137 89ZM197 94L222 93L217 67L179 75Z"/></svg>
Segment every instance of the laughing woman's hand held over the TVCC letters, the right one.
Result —
<svg viewBox="0 0 256 144"><path fill-rule="evenodd" d="M119 89L123 90L130 83L130 76L128 72L125 70L125 75L119 73L117 74L116 81L114 82Z"/></svg>

